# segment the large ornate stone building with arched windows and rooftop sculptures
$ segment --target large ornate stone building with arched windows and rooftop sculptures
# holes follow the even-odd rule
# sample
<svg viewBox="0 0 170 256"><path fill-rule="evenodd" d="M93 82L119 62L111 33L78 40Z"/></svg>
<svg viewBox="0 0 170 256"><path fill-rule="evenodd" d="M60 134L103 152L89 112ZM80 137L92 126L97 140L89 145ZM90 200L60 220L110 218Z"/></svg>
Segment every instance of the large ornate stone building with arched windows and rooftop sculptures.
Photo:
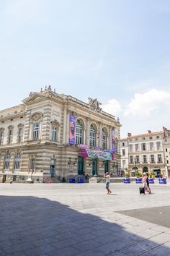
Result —
<svg viewBox="0 0 170 256"><path fill-rule="evenodd" d="M120 168L120 121L50 86L0 111L0 182L103 176ZM116 163L116 164L115 164Z"/></svg>

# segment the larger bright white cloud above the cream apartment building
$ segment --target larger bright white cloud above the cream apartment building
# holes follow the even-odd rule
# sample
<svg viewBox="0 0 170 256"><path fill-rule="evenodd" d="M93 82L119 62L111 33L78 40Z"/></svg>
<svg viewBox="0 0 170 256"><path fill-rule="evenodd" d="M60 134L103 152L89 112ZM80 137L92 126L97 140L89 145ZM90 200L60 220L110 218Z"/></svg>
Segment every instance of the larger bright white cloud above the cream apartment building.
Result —
<svg viewBox="0 0 170 256"><path fill-rule="evenodd" d="M163 90L149 90L147 93L135 93L126 106L125 116L151 116L161 108L170 106L170 93Z"/></svg>

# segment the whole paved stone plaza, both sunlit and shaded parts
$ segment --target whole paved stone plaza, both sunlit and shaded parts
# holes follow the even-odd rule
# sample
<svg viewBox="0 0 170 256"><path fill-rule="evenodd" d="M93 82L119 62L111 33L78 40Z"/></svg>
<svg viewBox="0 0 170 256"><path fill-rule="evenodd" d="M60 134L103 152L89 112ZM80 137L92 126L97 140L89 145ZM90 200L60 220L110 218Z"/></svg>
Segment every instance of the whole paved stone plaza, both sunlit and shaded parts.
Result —
<svg viewBox="0 0 170 256"><path fill-rule="evenodd" d="M0 184L0 256L170 255L170 185Z"/></svg>

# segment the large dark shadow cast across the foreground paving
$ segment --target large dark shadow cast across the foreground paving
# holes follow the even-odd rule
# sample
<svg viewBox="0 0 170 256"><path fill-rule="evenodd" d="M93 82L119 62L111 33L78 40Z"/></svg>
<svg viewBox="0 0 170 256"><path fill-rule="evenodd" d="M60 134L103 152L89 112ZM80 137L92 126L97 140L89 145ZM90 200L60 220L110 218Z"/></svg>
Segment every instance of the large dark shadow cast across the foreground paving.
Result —
<svg viewBox="0 0 170 256"><path fill-rule="evenodd" d="M131 234L57 201L0 196L0 205L0 256L170 255L170 247L143 239L140 229Z"/></svg>

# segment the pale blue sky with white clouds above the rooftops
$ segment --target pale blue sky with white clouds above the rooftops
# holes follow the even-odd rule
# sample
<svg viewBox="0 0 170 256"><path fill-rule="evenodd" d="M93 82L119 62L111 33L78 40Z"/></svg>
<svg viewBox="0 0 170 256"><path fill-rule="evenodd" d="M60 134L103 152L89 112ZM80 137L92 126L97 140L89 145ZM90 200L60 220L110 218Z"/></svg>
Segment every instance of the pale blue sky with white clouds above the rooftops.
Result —
<svg viewBox="0 0 170 256"><path fill-rule="evenodd" d="M51 85L120 118L121 137L170 129L169 0L1 0L0 109Z"/></svg>

